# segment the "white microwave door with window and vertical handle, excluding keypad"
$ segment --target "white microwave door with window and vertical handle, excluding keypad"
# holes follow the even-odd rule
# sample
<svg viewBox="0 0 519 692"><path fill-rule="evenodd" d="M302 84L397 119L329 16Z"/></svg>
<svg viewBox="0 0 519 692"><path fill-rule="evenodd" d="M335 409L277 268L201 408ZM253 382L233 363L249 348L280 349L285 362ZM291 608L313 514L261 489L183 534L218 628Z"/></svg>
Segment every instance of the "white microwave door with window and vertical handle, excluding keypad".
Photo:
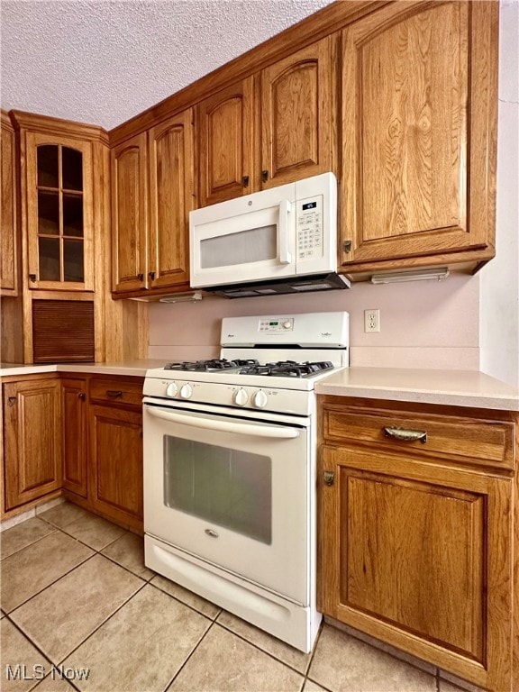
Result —
<svg viewBox="0 0 519 692"><path fill-rule="evenodd" d="M205 221L200 214L197 220L192 213L193 287L286 278L296 273L295 205L282 199L254 210L244 209L242 204L233 208L233 203L243 199L223 203L228 212L223 218Z"/></svg>

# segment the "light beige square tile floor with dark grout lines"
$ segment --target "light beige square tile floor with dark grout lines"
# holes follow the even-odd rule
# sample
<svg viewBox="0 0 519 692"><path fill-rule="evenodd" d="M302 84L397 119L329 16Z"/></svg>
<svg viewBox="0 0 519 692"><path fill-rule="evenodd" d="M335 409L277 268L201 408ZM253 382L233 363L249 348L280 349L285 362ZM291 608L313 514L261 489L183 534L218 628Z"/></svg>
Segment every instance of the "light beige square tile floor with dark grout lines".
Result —
<svg viewBox="0 0 519 692"><path fill-rule="evenodd" d="M139 536L76 505L54 506L0 540L4 692L460 689L330 624L311 654L296 651L156 575Z"/></svg>

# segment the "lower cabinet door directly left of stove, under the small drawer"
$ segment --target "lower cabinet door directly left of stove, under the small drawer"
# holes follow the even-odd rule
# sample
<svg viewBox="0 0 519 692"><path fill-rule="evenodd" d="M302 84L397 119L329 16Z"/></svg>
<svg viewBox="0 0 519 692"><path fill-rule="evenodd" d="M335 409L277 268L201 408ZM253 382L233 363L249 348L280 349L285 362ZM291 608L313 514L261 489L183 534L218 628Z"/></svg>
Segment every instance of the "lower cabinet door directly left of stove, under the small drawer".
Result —
<svg viewBox="0 0 519 692"><path fill-rule="evenodd" d="M90 406L90 500L115 522L142 530L142 414Z"/></svg>

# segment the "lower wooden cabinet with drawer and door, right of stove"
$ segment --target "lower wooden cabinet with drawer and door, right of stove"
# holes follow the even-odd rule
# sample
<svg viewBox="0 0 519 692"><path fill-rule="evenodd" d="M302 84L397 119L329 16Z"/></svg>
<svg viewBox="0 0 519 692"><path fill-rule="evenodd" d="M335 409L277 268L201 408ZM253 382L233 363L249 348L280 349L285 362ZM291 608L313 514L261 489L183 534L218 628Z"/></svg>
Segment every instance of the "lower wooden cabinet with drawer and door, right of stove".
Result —
<svg viewBox="0 0 519 692"><path fill-rule="evenodd" d="M517 421L474 415L322 397L318 607L505 692L517 647Z"/></svg>

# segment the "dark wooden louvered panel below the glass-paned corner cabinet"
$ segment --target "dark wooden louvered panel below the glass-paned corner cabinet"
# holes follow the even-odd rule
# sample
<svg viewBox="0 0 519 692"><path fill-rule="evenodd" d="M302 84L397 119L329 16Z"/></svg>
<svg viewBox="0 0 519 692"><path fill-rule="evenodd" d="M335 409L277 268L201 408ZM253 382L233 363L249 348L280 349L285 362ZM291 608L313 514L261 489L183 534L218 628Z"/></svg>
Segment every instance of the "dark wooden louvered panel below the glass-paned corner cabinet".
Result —
<svg viewBox="0 0 519 692"><path fill-rule="evenodd" d="M94 303L32 301L32 354L35 363L94 361Z"/></svg>

